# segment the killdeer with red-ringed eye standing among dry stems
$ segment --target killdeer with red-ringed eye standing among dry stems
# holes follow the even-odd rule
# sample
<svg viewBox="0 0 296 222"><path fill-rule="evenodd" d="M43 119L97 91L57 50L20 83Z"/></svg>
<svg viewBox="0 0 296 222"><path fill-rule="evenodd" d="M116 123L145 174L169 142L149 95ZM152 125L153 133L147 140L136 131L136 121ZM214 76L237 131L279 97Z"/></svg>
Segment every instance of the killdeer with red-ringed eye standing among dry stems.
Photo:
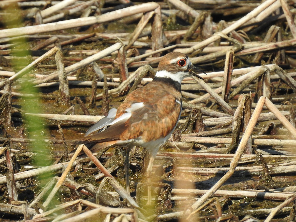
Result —
<svg viewBox="0 0 296 222"><path fill-rule="evenodd" d="M181 81L191 75L201 78L196 72L205 73L194 67L186 54L166 54L151 83L128 94L117 110L112 108L107 116L89 128L85 138L78 141L93 144L90 146L92 152L105 147L126 146L126 160L131 147L144 147L150 154L146 170L150 176L159 148L168 141L180 119ZM100 131L89 136L97 130ZM126 179L128 183L128 176Z"/></svg>

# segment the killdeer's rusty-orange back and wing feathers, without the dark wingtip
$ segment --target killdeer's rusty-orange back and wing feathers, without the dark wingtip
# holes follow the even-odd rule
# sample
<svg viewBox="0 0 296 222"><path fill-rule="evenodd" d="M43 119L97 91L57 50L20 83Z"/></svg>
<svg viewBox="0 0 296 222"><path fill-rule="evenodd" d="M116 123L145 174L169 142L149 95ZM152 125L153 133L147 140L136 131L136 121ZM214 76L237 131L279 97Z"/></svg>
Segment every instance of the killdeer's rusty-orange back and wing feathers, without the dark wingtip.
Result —
<svg viewBox="0 0 296 222"><path fill-rule="evenodd" d="M180 101L181 93L168 94L168 90L158 84L146 86L133 91L126 103L118 107L118 111L126 110L126 104L146 101L143 107L131 113L126 130L120 135L121 140L138 136L142 136L144 141L156 140L167 136L176 126L181 112L181 104L176 102L176 97Z"/></svg>

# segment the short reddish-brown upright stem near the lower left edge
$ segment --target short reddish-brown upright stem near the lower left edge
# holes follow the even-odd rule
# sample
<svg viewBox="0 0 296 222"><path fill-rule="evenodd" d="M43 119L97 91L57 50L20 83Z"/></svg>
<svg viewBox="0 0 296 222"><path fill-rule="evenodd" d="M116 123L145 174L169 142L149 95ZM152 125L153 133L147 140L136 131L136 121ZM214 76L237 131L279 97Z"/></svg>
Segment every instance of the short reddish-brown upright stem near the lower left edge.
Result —
<svg viewBox="0 0 296 222"><path fill-rule="evenodd" d="M8 196L10 201L17 201L18 200L17 188L15 184L15 175L14 175L14 169L13 169L9 147L6 147L6 150L5 150L5 159L6 159L7 169L8 169L6 173Z"/></svg>

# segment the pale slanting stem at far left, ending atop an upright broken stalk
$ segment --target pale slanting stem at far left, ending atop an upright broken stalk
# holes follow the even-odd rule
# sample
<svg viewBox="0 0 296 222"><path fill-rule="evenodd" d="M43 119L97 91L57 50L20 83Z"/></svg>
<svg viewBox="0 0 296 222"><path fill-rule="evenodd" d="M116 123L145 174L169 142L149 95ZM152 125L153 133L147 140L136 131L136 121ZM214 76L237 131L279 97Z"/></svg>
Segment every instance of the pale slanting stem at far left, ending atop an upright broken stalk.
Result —
<svg viewBox="0 0 296 222"><path fill-rule="evenodd" d="M32 70L34 67L39 65L41 62L43 62L44 60L46 60L49 57L51 57L52 55L54 55L58 50L59 50L59 48L55 46L54 48L52 48L51 50L49 50L48 52L43 54L41 57L39 57L38 59L31 62L28 66L26 66L25 68L23 68L19 72L15 73L15 75L13 75L12 77L9 78L9 81L13 82L13 81L17 80L18 78L22 77L24 74L28 73L30 70ZM4 86L4 82L0 82L0 89L3 86Z"/></svg>

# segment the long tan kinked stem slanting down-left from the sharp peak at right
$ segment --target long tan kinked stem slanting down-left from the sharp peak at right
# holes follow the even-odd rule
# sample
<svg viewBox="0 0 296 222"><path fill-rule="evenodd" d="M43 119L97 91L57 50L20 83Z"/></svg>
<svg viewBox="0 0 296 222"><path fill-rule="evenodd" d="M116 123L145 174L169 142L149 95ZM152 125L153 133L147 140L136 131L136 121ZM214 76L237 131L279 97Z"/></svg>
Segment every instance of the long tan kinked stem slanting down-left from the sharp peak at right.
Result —
<svg viewBox="0 0 296 222"><path fill-rule="evenodd" d="M235 153L234 157L233 157L233 160L231 161L231 164L230 164L230 170L214 185L212 186L211 189L209 189L209 191L204 194L197 202L195 202L193 205L192 205L192 209L195 210L197 209L198 207L200 207L202 205L203 202L205 202L217 189L219 189L219 187L226 181L228 180L232 174L234 173L234 170L237 166L237 163L239 162L243 152L244 152L244 149L246 147L246 144L247 144L247 141L249 140L251 134L252 134L252 131L253 131L253 128L255 127L255 124L258 120L258 117L260 115L260 112L264 106L264 103L265 103L265 97L261 97L257 103L257 106L253 112L253 115L250 119L250 123L248 124L247 128L246 128L246 131L244 132L243 134L243 137L239 143L239 146L237 147L237 152Z"/></svg>

